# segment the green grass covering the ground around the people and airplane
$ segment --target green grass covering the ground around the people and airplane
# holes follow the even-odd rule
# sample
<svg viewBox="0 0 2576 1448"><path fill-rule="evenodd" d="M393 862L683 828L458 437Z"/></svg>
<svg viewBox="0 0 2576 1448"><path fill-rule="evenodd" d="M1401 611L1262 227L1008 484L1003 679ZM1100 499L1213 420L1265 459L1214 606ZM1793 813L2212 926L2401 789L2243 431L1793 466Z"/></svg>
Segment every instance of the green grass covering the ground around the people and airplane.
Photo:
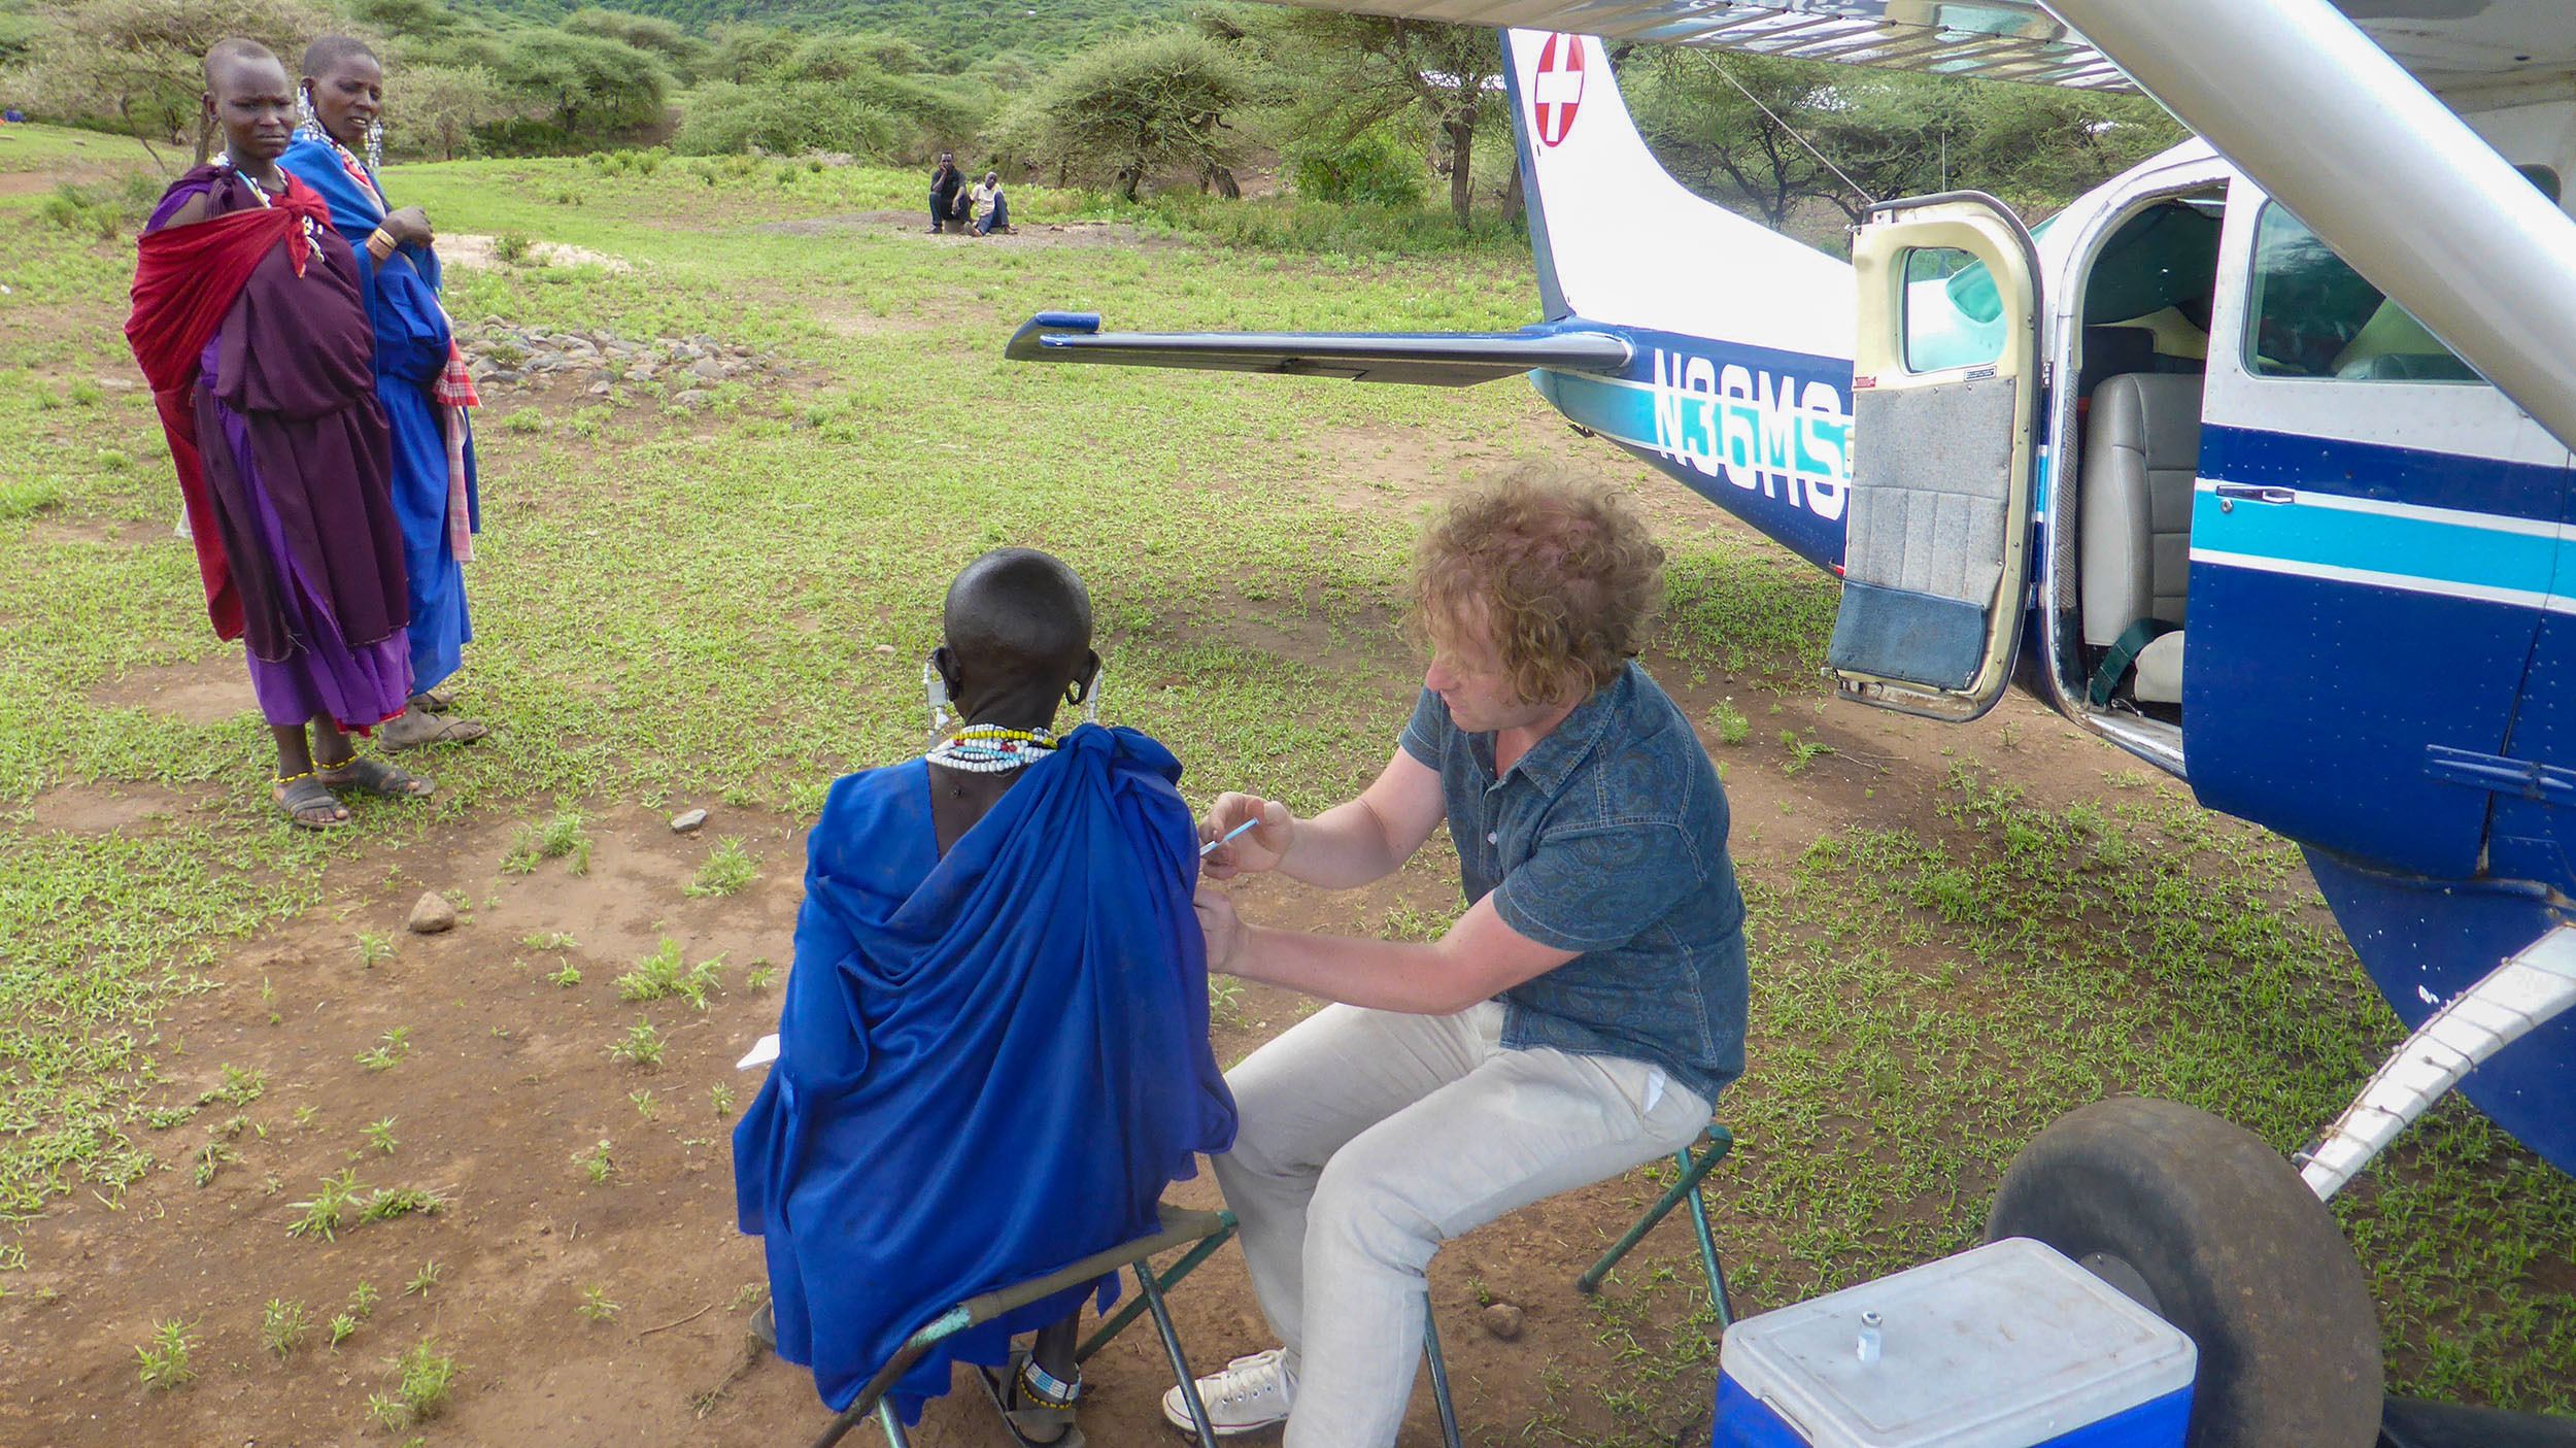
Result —
<svg viewBox="0 0 2576 1448"><path fill-rule="evenodd" d="M36 155L10 149L21 144L52 147L52 160L18 165ZM118 144L10 126L0 170ZM775 350L791 371L719 384L703 412L672 412L659 381L621 384L626 407L551 417L518 394L487 397L464 680L505 747L440 757L425 806L361 801L355 830L296 832L265 801L252 716L188 724L106 701L124 675L234 670L240 649L206 629L193 557L170 538L149 397L121 386L134 381L116 335L131 245L36 224L41 193L0 198L0 1224L113 1203L144 1172L188 1170L206 1141L178 1131L193 1108L173 1105L170 1082L193 1092L204 1074L173 1059L165 1013L185 992L252 989L227 964L242 943L371 886L386 850L518 819L515 863L572 868L618 801L729 799L811 819L837 773L917 752L940 593L1005 541L1087 577L1108 719L1170 742L1193 799L1345 799L1386 763L1414 660L1399 616L1417 510L1376 487L1365 448L1412 438L1443 469L1481 472L1520 446L1497 438L1546 415L1522 386L999 361L1010 327L1054 307L1097 309L1113 327L1489 330L1535 317L1517 242L1406 216L1198 198L1128 209L1025 188L1012 198L1028 222L1118 222L1141 245L945 247L881 224L762 229L909 214L920 178L871 167L781 183L770 167L665 162L644 178L487 160L394 167L389 188L451 232L634 263L459 268L459 319L708 332ZM1597 443L1546 451L1636 472ZM1716 526L1667 528L1667 546L1656 665L1674 685L1705 685L1703 706L1731 696L1708 711L1710 729L1747 745L1765 709L1777 714L1757 693L1811 688L1832 585ZM1280 631L1316 647L1278 647ZM1801 714L1765 734L1808 724L1808 698L1793 693ZM1780 757L1798 765L1795 783L1850 768L1814 734L1790 734ZM1780 786L1777 770L1747 768L1775 757L1767 742L1723 757L1739 778ZM36 824L39 796L88 783L206 806L121 835ZM1775 1306L1971 1242L2012 1152L2102 1092L2172 1095L2293 1149L2393 1036L2349 951L2293 899L2298 863L2277 840L2161 788L2048 812L1963 776L1945 799L1937 824L1826 832L1795 858L1747 866L1752 1074L1723 1103L1741 1147L1716 1177L1747 1301ZM768 868L793 866L773 855ZM742 889L750 871L739 843L719 843L690 884ZM1445 922L1394 907L1383 930L1427 938ZM358 958L332 946L332 969L355 976L392 948L358 935ZM698 971L711 964L688 966L675 948L659 958L626 971L618 995L706 997L714 976ZM580 982L572 961L531 966ZM752 961L742 984L760 992L775 974ZM363 1059L384 1069L407 1049L397 1028ZM639 1020L611 1054L644 1067L659 1049ZM680 1085L667 1095L683 1100ZM724 1116L734 1103L716 1087L708 1105ZM605 1141L574 1167L626 1180ZM330 1237L397 1201L428 1211L438 1193L366 1193L345 1172L278 1216ZM2568 1407L2576 1185L2455 1103L2336 1211L2372 1273L2401 1391ZM1566 1386L1625 1440L1705 1404L1708 1324L1687 1311L1687 1278L1659 1273L1649 1250L1623 1270L1638 1291L1595 1309L1615 1384L1577 1366L1584 1386ZM327 1319L332 1345L366 1322L366 1296ZM379 1396L415 1417L399 1384Z"/></svg>

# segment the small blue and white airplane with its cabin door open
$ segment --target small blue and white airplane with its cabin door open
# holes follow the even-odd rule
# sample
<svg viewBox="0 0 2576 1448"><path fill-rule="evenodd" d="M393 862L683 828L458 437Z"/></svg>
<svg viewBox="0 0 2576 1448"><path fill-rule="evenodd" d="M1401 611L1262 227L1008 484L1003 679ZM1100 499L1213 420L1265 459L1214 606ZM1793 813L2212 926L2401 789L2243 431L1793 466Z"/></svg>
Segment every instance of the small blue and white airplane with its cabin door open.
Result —
<svg viewBox="0 0 2576 1448"><path fill-rule="evenodd" d="M2576 1172L2576 5L1319 3L1561 28L1504 36L1546 317L1144 335L1054 312L1007 356L1528 376L1842 577L1847 698L1976 719L2020 683L2300 843L2414 1036L2244 1180L2208 1167L2228 1123L2079 1110L1989 1234L2190 1332L2200 1445L2576 1443L2383 1399L2321 1206L2447 1090ZM2197 139L2040 227L1978 193L1880 204L1842 263L1674 183L1605 39L2136 85Z"/></svg>

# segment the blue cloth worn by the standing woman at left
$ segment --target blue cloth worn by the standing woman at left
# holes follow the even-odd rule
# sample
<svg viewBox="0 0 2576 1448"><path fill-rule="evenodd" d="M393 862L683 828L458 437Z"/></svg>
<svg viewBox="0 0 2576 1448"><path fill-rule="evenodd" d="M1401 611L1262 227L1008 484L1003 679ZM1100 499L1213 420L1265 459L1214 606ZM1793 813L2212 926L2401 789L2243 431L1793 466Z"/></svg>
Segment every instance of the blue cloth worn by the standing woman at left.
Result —
<svg viewBox="0 0 2576 1448"><path fill-rule="evenodd" d="M448 441L430 386L448 366L448 314L438 307L438 252L402 247L384 265L366 237L384 224L358 178L330 142L299 134L278 165L330 201L330 224L358 252L366 319L376 330L376 399L394 428L394 515L402 520L402 567L412 582L412 688L438 688L474 639L466 575L448 541ZM474 438L466 438L466 518L482 531Z"/></svg>

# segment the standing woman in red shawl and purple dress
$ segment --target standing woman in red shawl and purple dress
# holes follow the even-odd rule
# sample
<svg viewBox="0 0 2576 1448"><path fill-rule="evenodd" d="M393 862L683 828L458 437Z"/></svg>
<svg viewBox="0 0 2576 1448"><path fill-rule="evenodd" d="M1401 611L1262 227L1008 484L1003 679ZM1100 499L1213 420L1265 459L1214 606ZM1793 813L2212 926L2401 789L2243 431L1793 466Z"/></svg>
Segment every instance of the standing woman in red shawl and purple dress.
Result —
<svg viewBox="0 0 2576 1448"><path fill-rule="evenodd" d="M325 830L348 822L332 791L430 794L348 739L399 716L412 688L374 340L348 242L278 167L296 119L286 67L222 41L204 103L224 155L144 224L126 340L170 435L216 634L250 652L278 742L270 794Z"/></svg>

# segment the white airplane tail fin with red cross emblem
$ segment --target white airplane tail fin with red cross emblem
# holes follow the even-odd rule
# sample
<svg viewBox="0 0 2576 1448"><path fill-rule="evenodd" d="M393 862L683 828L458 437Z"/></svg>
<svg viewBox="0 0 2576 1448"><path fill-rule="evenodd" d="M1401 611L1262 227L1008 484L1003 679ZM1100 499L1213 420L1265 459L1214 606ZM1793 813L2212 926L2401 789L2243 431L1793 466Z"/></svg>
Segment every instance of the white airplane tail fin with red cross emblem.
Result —
<svg viewBox="0 0 2576 1448"><path fill-rule="evenodd" d="M1654 160L1597 36L1504 31L1512 144L1551 322L1852 356L1852 268L1690 193Z"/></svg>

